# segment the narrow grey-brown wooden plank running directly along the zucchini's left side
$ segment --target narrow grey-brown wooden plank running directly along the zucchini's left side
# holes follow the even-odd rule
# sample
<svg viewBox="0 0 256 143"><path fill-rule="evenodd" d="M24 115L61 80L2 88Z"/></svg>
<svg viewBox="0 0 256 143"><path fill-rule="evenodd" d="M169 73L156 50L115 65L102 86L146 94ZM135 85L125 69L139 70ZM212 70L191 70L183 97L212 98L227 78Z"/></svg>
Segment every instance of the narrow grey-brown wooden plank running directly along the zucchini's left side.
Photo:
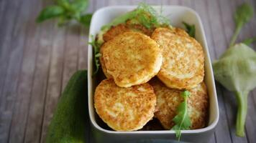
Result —
<svg viewBox="0 0 256 143"><path fill-rule="evenodd" d="M58 26L55 26L52 30L52 34L52 58L50 61L49 75L47 77L48 82L44 101L40 142L45 142L47 127L50 124L52 113L60 97L63 77L65 29L60 29Z"/></svg>

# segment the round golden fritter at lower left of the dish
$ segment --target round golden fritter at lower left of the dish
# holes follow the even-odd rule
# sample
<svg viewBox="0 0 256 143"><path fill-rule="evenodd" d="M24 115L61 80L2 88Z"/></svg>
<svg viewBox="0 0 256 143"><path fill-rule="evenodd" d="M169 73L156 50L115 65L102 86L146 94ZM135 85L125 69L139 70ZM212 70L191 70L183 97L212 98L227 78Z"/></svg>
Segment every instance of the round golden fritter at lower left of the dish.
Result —
<svg viewBox="0 0 256 143"><path fill-rule="evenodd" d="M123 88L104 79L94 94L96 112L116 131L141 129L154 116L155 104L154 90L147 83Z"/></svg>

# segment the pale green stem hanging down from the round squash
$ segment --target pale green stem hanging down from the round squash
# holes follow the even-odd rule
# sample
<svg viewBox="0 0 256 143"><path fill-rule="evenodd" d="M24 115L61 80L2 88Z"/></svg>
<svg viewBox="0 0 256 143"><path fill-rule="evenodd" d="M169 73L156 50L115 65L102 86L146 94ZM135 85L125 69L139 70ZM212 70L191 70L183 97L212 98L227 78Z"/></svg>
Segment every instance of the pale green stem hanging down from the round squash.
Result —
<svg viewBox="0 0 256 143"><path fill-rule="evenodd" d="M237 111L237 136L244 137L244 124L247 115L247 97L249 92L236 92L238 111Z"/></svg>

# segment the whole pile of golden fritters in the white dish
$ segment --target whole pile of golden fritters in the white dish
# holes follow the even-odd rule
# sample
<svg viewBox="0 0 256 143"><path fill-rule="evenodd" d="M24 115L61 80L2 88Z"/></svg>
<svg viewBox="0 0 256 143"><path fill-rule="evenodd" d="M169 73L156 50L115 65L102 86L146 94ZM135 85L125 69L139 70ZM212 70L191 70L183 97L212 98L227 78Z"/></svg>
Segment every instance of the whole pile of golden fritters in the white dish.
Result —
<svg viewBox="0 0 256 143"><path fill-rule="evenodd" d="M100 61L107 79L96 87L94 105L109 127L142 129L155 112L163 127L171 129L186 89L191 92L191 129L205 126L209 102L198 41L183 29L146 29L129 21L112 26L103 39Z"/></svg>

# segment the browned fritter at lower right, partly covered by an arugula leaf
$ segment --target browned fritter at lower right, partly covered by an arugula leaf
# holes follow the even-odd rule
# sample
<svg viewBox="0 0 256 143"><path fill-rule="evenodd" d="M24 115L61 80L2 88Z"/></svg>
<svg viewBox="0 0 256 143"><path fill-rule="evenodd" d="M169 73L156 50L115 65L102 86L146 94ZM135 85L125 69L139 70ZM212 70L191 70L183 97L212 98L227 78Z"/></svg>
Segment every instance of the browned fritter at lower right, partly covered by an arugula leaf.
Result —
<svg viewBox="0 0 256 143"><path fill-rule="evenodd" d="M155 117L165 129L171 129L174 126L173 117L176 115L178 105L183 102L181 93L183 90L170 89L166 87L159 79L150 81L157 96L157 106ZM200 129L205 127L209 97L204 82L198 84L196 88L188 90L191 95L188 97L188 114L191 119L191 129Z"/></svg>

